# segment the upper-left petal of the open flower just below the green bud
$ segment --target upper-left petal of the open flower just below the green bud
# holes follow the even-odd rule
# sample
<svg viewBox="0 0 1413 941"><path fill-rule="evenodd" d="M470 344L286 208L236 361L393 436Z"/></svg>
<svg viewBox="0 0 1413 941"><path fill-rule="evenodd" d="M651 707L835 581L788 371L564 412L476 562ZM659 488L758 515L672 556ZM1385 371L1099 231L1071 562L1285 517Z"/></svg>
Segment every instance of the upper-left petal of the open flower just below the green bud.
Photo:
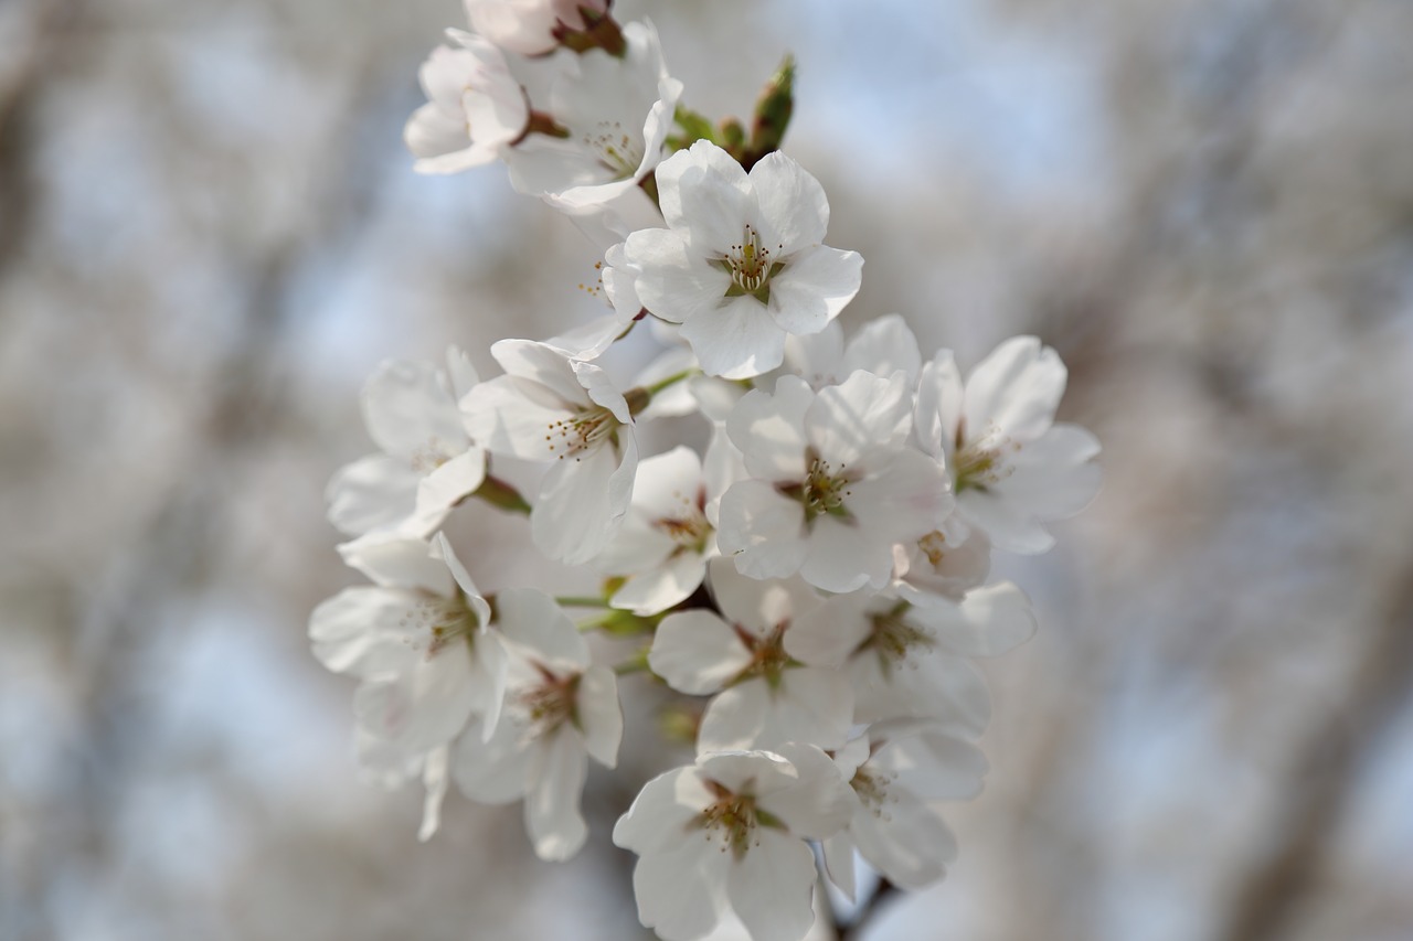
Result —
<svg viewBox="0 0 1413 941"><path fill-rule="evenodd" d="M726 151L699 140L657 167L657 191L668 227L685 230L692 250L721 257L740 243L756 198L746 171Z"/></svg>

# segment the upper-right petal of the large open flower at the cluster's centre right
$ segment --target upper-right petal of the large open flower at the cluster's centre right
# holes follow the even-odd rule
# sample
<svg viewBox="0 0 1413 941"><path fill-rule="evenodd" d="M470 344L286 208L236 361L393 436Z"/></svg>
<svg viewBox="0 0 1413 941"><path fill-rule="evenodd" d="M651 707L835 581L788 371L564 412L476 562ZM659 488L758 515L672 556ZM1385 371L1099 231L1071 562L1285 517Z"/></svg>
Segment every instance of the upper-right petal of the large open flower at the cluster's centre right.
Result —
<svg viewBox="0 0 1413 941"><path fill-rule="evenodd" d="M829 462L829 473L858 470L868 463L889 466L887 452L907 439L911 408L903 373L885 379L856 372L838 386L820 390L804 415L805 434L815 452Z"/></svg>

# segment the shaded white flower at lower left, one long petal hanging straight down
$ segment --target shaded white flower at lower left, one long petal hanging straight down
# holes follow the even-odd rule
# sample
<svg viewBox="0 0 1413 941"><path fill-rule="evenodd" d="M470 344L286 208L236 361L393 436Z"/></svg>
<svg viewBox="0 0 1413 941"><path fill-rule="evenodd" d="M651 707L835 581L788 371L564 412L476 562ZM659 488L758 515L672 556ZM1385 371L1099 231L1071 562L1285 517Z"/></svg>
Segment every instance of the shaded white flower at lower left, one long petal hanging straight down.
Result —
<svg viewBox="0 0 1413 941"><path fill-rule="evenodd" d="M588 836L579 812L588 756L606 767L617 760L617 681L591 664L584 637L541 592L500 592L496 622L512 651L504 714L489 742L475 726L462 736L452 774L472 800L524 797L536 855L568 859Z"/></svg>

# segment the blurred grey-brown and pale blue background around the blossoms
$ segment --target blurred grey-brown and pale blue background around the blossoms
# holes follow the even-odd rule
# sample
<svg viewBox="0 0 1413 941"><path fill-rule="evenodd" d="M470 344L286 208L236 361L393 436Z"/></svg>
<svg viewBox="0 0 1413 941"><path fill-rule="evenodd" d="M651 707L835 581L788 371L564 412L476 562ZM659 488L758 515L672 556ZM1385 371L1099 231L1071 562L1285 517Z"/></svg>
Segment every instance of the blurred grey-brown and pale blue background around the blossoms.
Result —
<svg viewBox="0 0 1413 941"><path fill-rule="evenodd" d="M1105 445L1060 548L999 562L1041 630L986 664L961 859L863 937L1413 937L1413 6L617 11L716 117L793 51L787 148L868 260L846 326L900 311L964 365L1034 332ZM357 581L322 489L374 365L493 373L599 309L502 168L410 170L461 24L0 3L0 938L643 937L609 829L663 759L591 777L571 865L456 794L418 845L305 640ZM516 521L461 526L513 578Z"/></svg>

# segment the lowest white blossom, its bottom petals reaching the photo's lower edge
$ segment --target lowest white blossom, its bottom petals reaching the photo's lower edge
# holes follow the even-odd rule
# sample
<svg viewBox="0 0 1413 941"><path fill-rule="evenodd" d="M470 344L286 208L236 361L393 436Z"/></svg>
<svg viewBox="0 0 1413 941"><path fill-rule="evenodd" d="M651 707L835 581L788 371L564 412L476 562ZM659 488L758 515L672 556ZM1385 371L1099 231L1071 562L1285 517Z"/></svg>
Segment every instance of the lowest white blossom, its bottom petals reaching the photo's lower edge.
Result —
<svg viewBox="0 0 1413 941"><path fill-rule="evenodd" d="M814 923L814 853L853 798L818 749L704 754L643 786L613 828L639 855L639 920L666 941L695 941L726 910L755 941L800 941Z"/></svg>

